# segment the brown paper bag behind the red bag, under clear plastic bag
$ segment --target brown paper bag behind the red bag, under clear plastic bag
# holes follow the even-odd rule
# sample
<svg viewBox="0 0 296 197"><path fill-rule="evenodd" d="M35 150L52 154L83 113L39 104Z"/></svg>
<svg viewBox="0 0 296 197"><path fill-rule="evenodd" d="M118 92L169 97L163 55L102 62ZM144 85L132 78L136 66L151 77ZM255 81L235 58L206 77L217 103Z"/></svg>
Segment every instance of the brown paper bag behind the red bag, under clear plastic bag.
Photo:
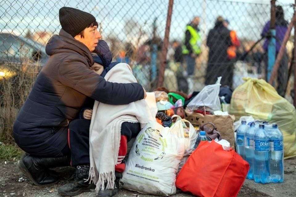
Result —
<svg viewBox="0 0 296 197"><path fill-rule="evenodd" d="M220 132L222 139L226 139L232 148L234 148L234 131L233 123L234 115L217 116L217 115L203 115L194 113L188 108L185 110L186 120L188 120L194 127L199 127L204 123L214 123L215 129Z"/></svg>

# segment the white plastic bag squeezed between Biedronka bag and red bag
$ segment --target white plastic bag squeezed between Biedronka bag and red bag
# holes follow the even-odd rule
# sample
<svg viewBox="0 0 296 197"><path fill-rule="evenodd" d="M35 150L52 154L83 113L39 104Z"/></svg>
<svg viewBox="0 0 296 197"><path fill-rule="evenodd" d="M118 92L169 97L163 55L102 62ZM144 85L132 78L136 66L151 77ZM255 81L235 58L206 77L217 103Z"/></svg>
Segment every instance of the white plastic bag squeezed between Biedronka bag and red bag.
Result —
<svg viewBox="0 0 296 197"><path fill-rule="evenodd" d="M174 116L172 116L173 118ZM189 124L189 127L187 127L187 125L185 123ZM187 131L184 131L187 130ZM197 139L197 135L196 135L196 131L194 129L194 127L192 126L192 124L185 119L179 119L177 118L176 123L171 127L171 132L173 134L175 134L176 136L178 136L179 138L183 138L184 142L185 142L185 152L184 152L184 156L183 159L181 159L180 165L179 165L179 169L178 169L178 173L181 170L181 168L183 167L183 165L186 163L187 159L189 158L189 156L191 155L191 153L195 150L194 149L194 145ZM188 132L188 133L187 133Z"/></svg>

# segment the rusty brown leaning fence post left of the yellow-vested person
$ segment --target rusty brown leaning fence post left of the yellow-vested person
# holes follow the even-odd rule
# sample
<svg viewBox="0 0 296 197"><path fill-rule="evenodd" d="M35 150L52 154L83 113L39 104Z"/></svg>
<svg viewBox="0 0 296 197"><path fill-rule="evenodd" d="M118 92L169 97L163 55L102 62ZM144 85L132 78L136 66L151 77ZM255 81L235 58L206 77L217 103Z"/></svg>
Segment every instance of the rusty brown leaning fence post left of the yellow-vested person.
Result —
<svg viewBox="0 0 296 197"><path fill-rule="evenodd" d="M163 45L162 45L162 57L161 57L161 65L159 68L157 87L161 87L163 84L164 70L167 64L167 47L169 45L169 35L170 35L170 28L171 28L173 5L174 5L174 0L169 0L168 10L167 10L167 25L166 25L166 31L165 31L165 36L164 36Z"/></svg>

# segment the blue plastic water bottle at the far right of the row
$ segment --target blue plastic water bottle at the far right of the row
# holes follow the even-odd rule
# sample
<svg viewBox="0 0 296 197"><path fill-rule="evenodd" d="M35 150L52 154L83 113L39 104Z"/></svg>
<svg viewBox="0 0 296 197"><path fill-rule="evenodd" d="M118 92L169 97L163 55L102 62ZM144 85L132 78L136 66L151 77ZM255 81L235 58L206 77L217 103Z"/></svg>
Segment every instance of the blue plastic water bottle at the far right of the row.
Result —
<svg viewBox="0 0 296 197"><path fill-rule="evenodd" d="M283 135L277 124L268 130L269 136L269 176L270 182L284 181L284 149Z"/></svg>

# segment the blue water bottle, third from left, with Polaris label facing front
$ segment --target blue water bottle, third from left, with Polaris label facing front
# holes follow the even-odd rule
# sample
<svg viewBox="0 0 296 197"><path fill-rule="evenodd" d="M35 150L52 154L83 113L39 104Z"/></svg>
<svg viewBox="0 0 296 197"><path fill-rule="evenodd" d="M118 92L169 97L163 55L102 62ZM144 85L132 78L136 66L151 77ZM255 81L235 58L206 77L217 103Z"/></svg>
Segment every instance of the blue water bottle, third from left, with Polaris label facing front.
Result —
<svg viewBox="0 0 296 197"><path fill-rule="evenodd" d="M254 179L256 183L269 182L269 136L263 124L254 134Z"/></svg>

